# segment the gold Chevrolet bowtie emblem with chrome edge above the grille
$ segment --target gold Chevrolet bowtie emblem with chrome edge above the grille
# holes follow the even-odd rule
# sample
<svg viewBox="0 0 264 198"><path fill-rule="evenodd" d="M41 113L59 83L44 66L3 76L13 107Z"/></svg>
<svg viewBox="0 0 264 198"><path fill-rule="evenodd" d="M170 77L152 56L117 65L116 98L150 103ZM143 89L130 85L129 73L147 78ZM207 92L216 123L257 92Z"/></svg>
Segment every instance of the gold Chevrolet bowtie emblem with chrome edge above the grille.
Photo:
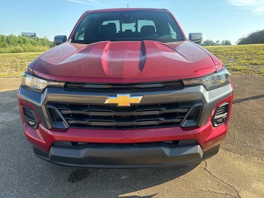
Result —
<svg viewBox="0 0 264 198"><path fill-rule="evenodd" d="M130 106L140 103L143 96L130 96L130 94L117 94L117 97L108 96L104 104L117 104L118 106Z"/></svg>

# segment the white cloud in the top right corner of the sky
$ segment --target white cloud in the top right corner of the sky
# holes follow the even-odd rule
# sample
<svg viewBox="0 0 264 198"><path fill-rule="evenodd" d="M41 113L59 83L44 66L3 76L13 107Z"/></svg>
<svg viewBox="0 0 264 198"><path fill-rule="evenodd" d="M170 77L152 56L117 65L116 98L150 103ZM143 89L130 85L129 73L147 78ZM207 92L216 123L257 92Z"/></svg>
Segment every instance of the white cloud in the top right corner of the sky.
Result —
<svg viewBox="0 0 264 198"><path fill-rule="evenodd" d="M255 14L264 14L264 0L227 0L229 4L248 9Z"/></svg>

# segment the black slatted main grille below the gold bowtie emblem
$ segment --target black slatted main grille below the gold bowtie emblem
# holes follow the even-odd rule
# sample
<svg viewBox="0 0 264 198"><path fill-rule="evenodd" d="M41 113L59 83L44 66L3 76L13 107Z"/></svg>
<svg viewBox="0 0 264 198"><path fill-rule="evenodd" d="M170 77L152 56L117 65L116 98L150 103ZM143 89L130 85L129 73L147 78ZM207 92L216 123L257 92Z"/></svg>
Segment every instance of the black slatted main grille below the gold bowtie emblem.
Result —
<svg viewBox="0 0 264 198"><path fill-rule="evenodd" d="M200 101L130 107L49 103L47 112L54 128L58 126L90 129L185 127L197 126L202 105ZM61 124L63 122L64 124Z"/></svg>

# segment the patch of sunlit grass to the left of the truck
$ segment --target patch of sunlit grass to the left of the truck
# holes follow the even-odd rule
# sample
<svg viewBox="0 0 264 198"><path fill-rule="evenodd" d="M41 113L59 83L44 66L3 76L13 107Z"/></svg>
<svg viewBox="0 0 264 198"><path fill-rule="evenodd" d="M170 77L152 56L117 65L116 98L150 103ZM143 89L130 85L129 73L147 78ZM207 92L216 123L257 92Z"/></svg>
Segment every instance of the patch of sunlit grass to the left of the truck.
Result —
<svg viewBox="0 0 264 198"><path fill-rule="evenodd" d="M0 78L18 78L27 65L43 52L0 54Z"/></svg>

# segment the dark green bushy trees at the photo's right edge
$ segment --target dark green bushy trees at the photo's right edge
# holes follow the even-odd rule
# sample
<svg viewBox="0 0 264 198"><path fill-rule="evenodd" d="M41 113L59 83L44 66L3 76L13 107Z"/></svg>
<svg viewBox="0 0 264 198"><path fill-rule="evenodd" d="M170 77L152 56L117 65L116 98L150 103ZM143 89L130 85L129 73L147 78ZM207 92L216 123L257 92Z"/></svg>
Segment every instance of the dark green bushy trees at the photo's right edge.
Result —
<svg viewBox="0 0 264 198"><path fill-rule="evenodd" d="M242 37L237 40L237 45L247 45L247 44L261 44L264 43L264 30L257 30L247 35L247 37Z"/></svg>

